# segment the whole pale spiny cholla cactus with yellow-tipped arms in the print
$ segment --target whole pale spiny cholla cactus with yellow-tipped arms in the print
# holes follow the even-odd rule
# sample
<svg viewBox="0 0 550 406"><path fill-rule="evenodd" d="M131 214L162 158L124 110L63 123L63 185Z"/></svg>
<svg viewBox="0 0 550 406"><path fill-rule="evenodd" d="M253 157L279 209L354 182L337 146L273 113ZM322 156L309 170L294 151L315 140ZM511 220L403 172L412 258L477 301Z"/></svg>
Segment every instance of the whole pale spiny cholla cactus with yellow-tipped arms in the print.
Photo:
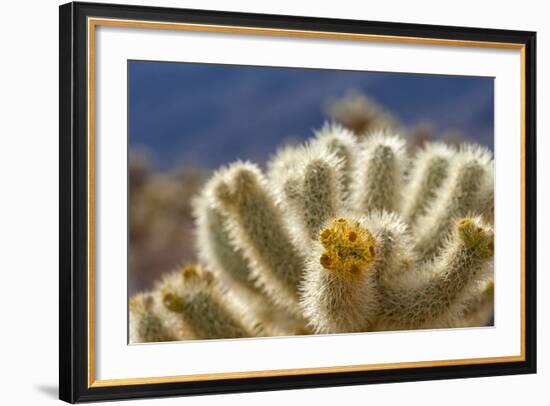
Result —
<svg viewBox="0 0 550 406"><path fill-rule="evenodd" d="M166 277L147 306L132 299L133 341L486 325L490 152L427 143L409 156L385 131L326 125L266 174L218 170L194 202L202 265Z"/></svg>

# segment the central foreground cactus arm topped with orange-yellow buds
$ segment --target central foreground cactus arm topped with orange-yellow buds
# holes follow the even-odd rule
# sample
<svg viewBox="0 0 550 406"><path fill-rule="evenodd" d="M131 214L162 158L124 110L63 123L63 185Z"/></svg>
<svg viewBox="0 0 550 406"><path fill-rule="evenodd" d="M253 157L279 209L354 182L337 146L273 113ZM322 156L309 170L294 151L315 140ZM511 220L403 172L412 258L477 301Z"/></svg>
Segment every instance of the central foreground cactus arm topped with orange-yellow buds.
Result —
<svg viewBox="0 0 550 406"><path fill-rule="evenodd" d="M301 306L316 333L370 330L376 314L375 240L358 219L331 221L314 245Z"/></svg>

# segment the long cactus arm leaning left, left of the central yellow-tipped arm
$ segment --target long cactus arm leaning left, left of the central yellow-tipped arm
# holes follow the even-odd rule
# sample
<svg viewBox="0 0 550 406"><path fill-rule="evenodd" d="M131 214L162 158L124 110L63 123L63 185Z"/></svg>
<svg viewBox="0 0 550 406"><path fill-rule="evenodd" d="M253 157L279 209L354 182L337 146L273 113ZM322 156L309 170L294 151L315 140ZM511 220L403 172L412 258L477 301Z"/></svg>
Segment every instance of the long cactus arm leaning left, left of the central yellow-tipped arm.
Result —
<svg viewBox="0 0 550 406"><path fill-rule="evenodd" d="M211 196L253 277L275 303L296 311L304 260L260 170L249 163L233 164L215 176Z"/></svg>

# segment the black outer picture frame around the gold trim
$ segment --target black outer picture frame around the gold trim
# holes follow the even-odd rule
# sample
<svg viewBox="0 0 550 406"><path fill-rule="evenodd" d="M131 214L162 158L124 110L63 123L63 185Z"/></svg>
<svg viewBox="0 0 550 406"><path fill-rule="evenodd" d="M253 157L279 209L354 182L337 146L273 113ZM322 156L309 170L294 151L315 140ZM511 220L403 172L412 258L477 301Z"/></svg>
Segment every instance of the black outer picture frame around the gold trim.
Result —
<svg viewBox="0 0 550 406"><path fill-rule="evenodd" d="M59 397L67 402L235 393L423 381L536 372L536 33L374 21L260 15L112 4L60 6ZM87 30L89 17L344 32L524 47L524 359L472 365L400 368L119 386L90 385L88 353Z"/></svg>

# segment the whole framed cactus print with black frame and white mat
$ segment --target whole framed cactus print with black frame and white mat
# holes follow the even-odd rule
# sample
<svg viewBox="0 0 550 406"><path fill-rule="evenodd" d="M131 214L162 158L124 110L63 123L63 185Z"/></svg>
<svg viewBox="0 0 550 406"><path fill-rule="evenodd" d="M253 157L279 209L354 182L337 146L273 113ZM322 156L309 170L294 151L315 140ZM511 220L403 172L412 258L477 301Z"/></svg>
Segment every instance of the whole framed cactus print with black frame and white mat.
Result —
<svg viewBox="0 0 550 406"><path fill-rule="evenodd" d="M533 32L60 7L60 398L536 371Z"/></svg>

